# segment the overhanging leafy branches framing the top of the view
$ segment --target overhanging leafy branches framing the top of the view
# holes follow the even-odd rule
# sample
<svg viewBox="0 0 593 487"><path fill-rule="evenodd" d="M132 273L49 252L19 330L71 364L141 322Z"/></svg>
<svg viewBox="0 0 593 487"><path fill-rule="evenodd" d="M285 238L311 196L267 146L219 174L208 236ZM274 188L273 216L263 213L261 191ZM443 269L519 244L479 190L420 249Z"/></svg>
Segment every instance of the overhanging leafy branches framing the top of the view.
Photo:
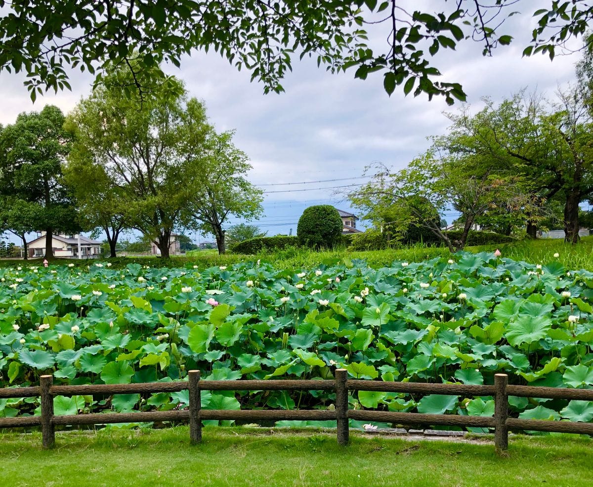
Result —
<svg viewBox="0 0 593 487"><path fill-rule="evenodd" d="M527 0L431 2L429 11L408 12L399 0L46 0L0 2L0 72L25 72L31 98L46 90L69 88L68 68L97 74L100 81L113 64L126 66L141 97L161 84L161 62L180 65L192 50L213 49L238 69L250 69L264 90L282 91L280 79L292 56L316 56L330 71L356 68L365 79L384 74L391 94L428 94L463 100L454 80L437 81L441 70L429 59L473 39L491 55L512 42L503 21ZM434 4L434 5L433 5ZM530 44L523 53L553 58L572 37L585 34L593 18L589 2L559 0L533 12ZM365 24L375 24L384 44L367 42ZM143 77L145 72L151 76Z"/></svg>

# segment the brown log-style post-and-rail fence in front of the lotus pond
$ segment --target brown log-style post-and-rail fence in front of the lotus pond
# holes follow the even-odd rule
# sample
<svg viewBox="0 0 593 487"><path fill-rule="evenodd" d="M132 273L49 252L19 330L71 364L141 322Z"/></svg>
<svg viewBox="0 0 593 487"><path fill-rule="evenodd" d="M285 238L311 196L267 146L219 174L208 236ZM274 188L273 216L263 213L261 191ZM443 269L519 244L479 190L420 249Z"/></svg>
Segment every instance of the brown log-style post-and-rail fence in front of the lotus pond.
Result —
<svg viewBox="0 0 593 487"><path fill-rule="evenodd" d="M187 381L153 382L143 384L100 384L85 386L54 386L52 375L42 375L39 387L8 387L0 389L0 399L41 397L41 415L18 418L0 418L0 428L41 426L43 446L55 444L55 426L100 425L128 422L189 421L190 440L202 440L203 419L234 421L327 421L335 420L337 441L346 445L349 438L349 419L380 421L404 425L465 426L493 428L497 451L508 448L509 429L555 431L593 435L593 424L570 421L538 421L508 417L508 396L537 397L541 399L593 400L593 389L559 389L556 387L511 386L506 374L496 374L493 386L466 384L427 384L410 382L384 382L353 380L345 369L337 369L335 380L204 380L200 372L189 371ZM53 413L54 396L110 395L132 393L177 392L189 390L189 408L186 410L151 411L136 413L93 413L60 415ZM333 390L336 392L334 409L314 410L215 410L201 409L200 391L209 390ZM454 396L494 396L494 416L460 416L447 414L400 413L377 410L348 409L349 391L381 391L392 393L450 394Z"/></svg>

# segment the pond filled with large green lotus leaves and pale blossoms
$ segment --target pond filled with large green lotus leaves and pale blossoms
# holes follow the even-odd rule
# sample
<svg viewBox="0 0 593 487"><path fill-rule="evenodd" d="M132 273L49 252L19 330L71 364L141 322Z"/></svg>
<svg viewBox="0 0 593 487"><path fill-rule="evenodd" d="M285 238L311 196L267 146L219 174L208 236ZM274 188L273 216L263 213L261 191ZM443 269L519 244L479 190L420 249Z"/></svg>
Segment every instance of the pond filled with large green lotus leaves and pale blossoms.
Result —
<svg viewBox="0 0 593 487"><path fill-rule="evenodd" d="M0 269L0 387L183 380L353 378L593 386L593 272L458 253L372 269L237 263L198 270ZM55 398L56 414L185 408L187 391ZM330 393L202 392L205 409L326 408ZM591 421L593 402L509 397L511 415ZM492 415L492 397L364 392L351 408ZM39 413L0 400L0 416ZM306 425L306 422L279 422ZM381 426L380 424L378 424Z"/></svg>

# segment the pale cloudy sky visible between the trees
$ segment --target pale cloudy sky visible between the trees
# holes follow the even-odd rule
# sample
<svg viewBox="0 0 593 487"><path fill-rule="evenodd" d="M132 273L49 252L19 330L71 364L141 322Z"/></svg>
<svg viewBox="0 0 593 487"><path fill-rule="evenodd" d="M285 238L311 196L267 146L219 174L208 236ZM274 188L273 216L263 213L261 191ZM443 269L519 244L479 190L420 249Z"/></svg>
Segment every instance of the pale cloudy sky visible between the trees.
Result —
<svg viewBox="0 0 593 487"><path fill-rule="evenodd" d="M500 101L525 87L553 98L559 85L574 79L578 55L557 56L553 62L541 55L521 57L533 28L531 13L538 4L545 7L549 0L519 2L516 9L525 11L503 27L514 42L496 49L492 58L484 58L482 46L468 41L455 52L439 53L433 59L444 79L461 82L472 110L482 107L483 96ZM388 26L374 28L371 34L375 45L384 42ZM429 136L447 129L442 113L456 109L440 98L404 97L401 88L388 97L380 73L361 81L353 78L354 71L332 75L308 59L295 61L293 67L283 81L286 92L267 95L262 85L250 82L248 72L236 71L216 53L195 53L181 63L181 69L168 69L183 79L190 96L205 102L217 129L236 130L235 145L253 164L251 182L269 192L264 199L265 217L257 222L269 234L291 229L296 233L299 216L312 204L349 210L334 187L364 182L359 177L365 166L376 161L394 169L405 167L428 148ZM2 124L44 104L56 104L67 112L87 96L91 83L88 76L72 72L72 92L46 94L32 104L23 77L1 76ZM314 183L279 185L300 182Z"/></svg>

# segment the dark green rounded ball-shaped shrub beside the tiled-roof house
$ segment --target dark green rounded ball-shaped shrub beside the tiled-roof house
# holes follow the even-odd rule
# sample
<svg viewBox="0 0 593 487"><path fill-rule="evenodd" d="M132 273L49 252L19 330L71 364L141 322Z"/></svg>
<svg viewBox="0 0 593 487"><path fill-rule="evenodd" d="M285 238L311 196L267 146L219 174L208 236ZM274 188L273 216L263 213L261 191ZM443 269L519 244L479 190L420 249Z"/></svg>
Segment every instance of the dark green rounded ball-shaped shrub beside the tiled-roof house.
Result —
<svg viewBox="0 0 593 487"><path fill-rule="evenodd" d="M299 218L297 236L299 243L307 247L334 247L342 237L342 218L331 205L316 205L305 208Z"/></svg>

